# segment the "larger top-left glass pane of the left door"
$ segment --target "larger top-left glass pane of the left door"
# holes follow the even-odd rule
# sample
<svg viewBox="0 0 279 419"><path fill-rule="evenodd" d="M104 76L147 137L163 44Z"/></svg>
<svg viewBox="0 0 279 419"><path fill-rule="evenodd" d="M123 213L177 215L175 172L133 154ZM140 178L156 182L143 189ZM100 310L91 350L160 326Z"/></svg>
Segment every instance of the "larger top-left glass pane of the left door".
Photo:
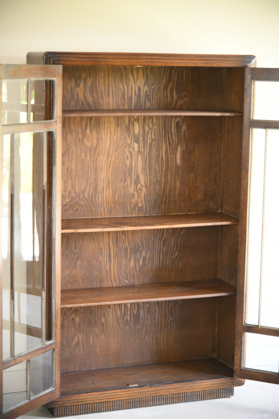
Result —
<svg viewBox="0 0 279 419"><path fill-rule="evenodd" d="M3 125L27 123L27 79L2 80Z"/></svg>

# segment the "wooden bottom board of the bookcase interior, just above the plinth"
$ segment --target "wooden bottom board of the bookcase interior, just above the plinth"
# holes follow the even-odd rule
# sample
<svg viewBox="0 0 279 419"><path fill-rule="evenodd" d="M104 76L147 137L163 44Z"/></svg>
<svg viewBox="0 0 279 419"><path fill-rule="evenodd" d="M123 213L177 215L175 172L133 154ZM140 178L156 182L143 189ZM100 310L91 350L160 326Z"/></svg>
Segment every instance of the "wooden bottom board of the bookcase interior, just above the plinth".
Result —
<svg viewBox="0 0 279 419"><path fill-rule="evenodd" d="M131 365L61 374L61 396L233 377L215 358Z"/></svg>

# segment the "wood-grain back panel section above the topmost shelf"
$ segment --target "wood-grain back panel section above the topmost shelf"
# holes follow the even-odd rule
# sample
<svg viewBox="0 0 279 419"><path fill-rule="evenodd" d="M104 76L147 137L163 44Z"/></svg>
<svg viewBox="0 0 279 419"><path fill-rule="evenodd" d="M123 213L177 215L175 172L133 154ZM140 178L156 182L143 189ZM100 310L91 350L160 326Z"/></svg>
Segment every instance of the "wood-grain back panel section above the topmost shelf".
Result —
<svg viewBox="0 0 279 419"><path fill-rule="evenodd" d="M222 109L224 72L198 67L67 66L63 109Z"/></svg>

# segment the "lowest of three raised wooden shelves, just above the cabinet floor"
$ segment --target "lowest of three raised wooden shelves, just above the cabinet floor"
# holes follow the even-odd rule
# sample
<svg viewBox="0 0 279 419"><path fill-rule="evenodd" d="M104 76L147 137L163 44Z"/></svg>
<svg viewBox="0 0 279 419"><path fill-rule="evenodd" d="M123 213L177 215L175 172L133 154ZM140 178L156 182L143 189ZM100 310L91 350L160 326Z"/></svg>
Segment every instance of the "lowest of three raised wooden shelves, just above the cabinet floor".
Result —
<svg viewBox="0 0 279 419"><path fill-rule="evenodd" d="M61 308L219 297L236 293L220 279L61 291Z"/></svg>

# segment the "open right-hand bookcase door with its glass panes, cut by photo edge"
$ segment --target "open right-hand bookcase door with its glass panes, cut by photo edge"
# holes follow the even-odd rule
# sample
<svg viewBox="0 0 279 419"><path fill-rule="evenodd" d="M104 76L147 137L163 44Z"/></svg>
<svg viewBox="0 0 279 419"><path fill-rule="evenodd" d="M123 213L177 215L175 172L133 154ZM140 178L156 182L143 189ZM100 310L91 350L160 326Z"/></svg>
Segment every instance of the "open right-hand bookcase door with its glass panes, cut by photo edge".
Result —
<svg viewBox="0 0 279 419"><path fill-rule="evenodd" d="M279 69L245 72L235 372L279 383Z"/></svg>

